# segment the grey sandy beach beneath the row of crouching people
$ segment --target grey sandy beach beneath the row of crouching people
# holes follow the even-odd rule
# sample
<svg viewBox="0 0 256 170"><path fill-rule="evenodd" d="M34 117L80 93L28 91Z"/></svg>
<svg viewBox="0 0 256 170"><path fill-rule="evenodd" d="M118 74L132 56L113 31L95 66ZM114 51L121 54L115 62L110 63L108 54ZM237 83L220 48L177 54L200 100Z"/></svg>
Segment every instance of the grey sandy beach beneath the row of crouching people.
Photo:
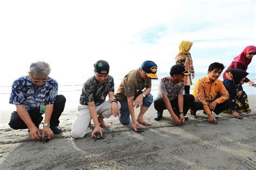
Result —
<svg viewBox="0 0 256 170"><path fill-rule="evenodd" d="M198 118L188 114L181 126L172 123L167 111L155 121L151 106L145 119L152 125L143 126L143 133L111 117L106 121L112 126L103 128L105 139L97 141L90 137L93 126L84 138L71 138L75 105L65 108L60 117L63 132L49 142L30 140L28 130L11 130L6 126L10 113L2 113L0 169L255 169L255 96L249 101L252 113L243 113L244 119L221 113L218 124L210 124L200 111Z"/></svg>

